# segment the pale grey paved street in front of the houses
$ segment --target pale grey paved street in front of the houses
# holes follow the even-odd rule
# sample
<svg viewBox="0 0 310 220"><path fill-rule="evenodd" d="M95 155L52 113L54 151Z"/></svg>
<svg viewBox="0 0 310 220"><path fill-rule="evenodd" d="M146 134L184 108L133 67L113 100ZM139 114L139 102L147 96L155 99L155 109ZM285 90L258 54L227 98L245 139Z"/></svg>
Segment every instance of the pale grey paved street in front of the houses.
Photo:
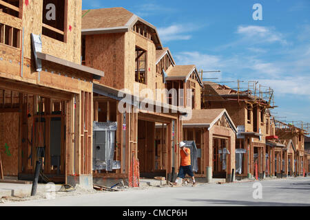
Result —
<svg viewBox="0 0 310 220"><path fill-rule="evenodd" d="M256 182L262 184L262 199L253 197ZM256 182L134 189L0 206L310 206L309 177Z"/></svg>

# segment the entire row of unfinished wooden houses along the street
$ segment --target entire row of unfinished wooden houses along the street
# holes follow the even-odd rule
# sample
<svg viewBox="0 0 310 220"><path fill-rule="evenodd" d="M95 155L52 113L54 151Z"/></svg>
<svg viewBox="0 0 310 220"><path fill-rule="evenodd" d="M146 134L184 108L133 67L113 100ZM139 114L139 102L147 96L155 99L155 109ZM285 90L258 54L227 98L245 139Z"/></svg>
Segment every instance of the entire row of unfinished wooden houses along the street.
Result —
<svg viewBox="0 0 310 220"><path fill-rule="evenodd" d="M271 88L203 82L124 8L52 1L54 20L48 3L0 1L2 181L33 180L37 162L43 182L85 188L173 181L181 141L206 182L309 173L309 131L275 120Z"/></svg>

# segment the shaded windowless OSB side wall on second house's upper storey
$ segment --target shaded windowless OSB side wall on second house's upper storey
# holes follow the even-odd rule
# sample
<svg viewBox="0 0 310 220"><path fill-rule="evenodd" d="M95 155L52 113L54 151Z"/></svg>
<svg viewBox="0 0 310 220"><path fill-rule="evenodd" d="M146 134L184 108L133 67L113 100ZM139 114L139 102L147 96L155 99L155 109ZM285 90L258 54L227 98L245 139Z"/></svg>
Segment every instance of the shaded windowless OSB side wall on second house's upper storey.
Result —
<svg viewBox="0 0 310 220"><path fill-rule="evenodd" d="M105 72L100 83L124 89L125 34L86 36L86 65Z"/></svg>

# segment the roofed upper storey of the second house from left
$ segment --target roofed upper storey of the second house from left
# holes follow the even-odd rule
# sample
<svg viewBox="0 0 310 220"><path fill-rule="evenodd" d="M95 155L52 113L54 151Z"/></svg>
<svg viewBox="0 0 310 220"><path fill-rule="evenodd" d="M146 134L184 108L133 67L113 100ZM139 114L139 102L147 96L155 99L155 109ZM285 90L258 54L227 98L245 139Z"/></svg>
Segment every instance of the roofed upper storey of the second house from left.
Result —
<svg viewBox="0 0 310 220"><path fill-rule="evenodd" d="M125 8L82 12L83 64L105 69L99 83L134 93L151 89L156 94L156 51L163 45L154 25Z"/></svg>

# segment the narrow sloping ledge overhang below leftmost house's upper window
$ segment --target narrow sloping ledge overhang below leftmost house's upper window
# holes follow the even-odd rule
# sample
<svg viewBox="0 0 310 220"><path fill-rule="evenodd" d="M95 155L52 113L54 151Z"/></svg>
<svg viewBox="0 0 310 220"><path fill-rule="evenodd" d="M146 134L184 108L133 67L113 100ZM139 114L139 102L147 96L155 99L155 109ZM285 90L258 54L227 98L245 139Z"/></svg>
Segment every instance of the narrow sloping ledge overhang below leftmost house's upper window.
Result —
<svg viewBox="0 0 310 220"><path fill-rule="evenodd" d="M65 61L61 58L57 58L55 56L51 56L49 54L43 54L41 52L37 52L37 57L41 60L44 60L44 61L49 61L49 62L52 62L52 63L56 63L56 64L59 64L59 65L63 65L64 67L70 67L72 69L76 69L76 70L79 70L81 72L86 72L88 74L92 74L93 75L93 78L95 80L100 80L101 77L104 77L105 76L105 73L98 70L98 69L93 69L93 68L90 68L90 67L86 67L84 65L79 65L79 64L76 64L76 63L73 63L73 62L70 62L70 61Z"/></svg>

